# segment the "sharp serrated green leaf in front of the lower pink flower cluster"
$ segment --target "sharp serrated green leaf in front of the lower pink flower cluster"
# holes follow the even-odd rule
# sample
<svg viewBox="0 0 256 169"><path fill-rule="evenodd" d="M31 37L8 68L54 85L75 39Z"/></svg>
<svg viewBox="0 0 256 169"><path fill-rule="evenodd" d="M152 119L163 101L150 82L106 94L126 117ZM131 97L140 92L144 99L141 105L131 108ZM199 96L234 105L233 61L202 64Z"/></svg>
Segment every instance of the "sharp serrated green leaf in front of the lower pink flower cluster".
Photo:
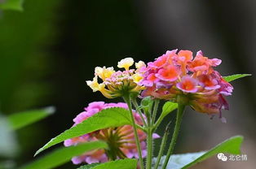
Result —
<svg viewBox="0 0 256 169"><path fill-rule="evenodd" d="M59 136L51 139L46 145L39 149L35 155L43 150L56 145L69 138L79 137L89 132L95 132L103 128L115 128L122 125L130 124L130 113L124 108L113 107L100 111L83 121L81 124L62 132Z"/></svg>

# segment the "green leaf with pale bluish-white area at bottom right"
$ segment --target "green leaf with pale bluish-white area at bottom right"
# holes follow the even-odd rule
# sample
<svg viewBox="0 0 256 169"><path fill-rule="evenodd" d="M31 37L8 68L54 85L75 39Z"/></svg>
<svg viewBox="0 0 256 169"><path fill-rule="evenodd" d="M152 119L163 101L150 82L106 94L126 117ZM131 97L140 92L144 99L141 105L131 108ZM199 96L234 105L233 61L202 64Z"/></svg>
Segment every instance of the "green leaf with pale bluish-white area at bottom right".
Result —
<svg viewBox="0 0 256 169"><path fill-rule="evenodd" d="M210 158L218 153L228 153L228 154L241 154L241 143L243 137L236 136L223 141L222 143L216 145L213 149L209 151L202 151L191 154L174 154L170 157L170 161L167 165L167 169L180 169L188 168L194 166L196 163L201 163L207 158ZM165 157L161 158L161 165L163 164ZM156 161L156 158L154 158ZM159 169L161 169L161 165Z"/></svg>

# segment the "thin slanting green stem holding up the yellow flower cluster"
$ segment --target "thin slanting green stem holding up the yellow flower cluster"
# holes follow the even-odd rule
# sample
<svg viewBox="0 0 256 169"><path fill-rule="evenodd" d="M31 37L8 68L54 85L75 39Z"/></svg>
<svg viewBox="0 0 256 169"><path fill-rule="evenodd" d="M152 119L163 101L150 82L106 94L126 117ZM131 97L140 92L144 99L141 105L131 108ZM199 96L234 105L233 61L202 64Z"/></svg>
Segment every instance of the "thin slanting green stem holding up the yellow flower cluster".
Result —
<svg viewBox="0 0 256 169"><path fill-rule="evenodd" d="M137 129L136 129L135 117L132 113L132 108L131 108L131 104L130 104L130 94L128 94L126 97L124 97L124 100L127 103L129 111L130 111L131 124L132 124L132 127L133 127L134 132L135 132L135 142L136 142L137 150L138 150L138 153L139 153L139 165L140 165L140 168L143 169L144 165L143 165L142 152L141 152L138 132L137 132Z"/></svg>

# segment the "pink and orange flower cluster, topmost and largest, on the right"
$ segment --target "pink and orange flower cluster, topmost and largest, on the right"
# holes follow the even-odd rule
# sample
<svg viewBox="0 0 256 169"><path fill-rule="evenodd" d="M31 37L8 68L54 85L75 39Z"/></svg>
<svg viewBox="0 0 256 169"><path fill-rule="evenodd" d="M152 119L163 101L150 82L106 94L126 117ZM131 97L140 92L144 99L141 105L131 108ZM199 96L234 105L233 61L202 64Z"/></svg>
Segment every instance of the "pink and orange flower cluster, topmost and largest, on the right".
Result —
<svg viewBox="0 0 256 169"><path fill-rule="evenodd" d="M223 95L232 94L232 85L214 71L222 61L207 58L201 51L193 58L189 50L167 51L154 62L143 67L143 80L139 85L146 87L143 97L166 99L177 102L179 95L188 98L188 104L196 111L210 115L228 109Z"/></svg>

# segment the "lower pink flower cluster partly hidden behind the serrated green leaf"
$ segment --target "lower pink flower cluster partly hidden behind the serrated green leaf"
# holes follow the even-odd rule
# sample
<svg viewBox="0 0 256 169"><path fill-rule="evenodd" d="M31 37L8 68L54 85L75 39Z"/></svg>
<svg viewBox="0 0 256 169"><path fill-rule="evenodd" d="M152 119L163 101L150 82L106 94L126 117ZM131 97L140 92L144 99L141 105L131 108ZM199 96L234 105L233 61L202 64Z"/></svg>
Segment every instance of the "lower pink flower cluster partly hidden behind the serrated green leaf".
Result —
<svg viewBox="0 0 256 169"><path fill-rule="evenodd" d="M95 115L99 111L102 111L111 107L122 107L128 109L126 103L118 102L118 103L104 103L104 102L91 102L89 106L85 108L85 111L77 115L75 119L73 119L73 126L82 123L82 121L90 118L92 115ZM135 122L136 124L142 125L143 122L140 119L139 115L134 112ZM146 150L146 138L147 135L141 131L137 130L139 134L139 141L142 148L143 157L147 155ZM111 137L110 137L111 136ZM115 136L115 137L113 137ZM154 138L159 137L157 134L154 134ZM118 128L105 128L96 132L91 132L85 134L81 137L74 137L72 139L68 139L64 141L65 146L77 145L79 143L87 142L87 141L106 141L109 144L112 144L110 150L92 150L81 156L72 158L74 164L79 163L105 163L108 161L111 156L117 156L117 158L139 158L136 144L135 144L135 136L132 126L125 125ZM114 150L111 150L114 149Z"/></svg>

